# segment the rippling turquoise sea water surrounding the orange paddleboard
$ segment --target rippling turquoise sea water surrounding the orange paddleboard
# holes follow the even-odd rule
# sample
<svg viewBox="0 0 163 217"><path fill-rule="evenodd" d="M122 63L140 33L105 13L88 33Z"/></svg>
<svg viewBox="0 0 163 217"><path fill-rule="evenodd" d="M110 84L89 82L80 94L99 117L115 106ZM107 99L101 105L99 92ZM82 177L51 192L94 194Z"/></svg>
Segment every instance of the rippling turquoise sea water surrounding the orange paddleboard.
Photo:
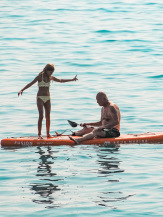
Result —
<svg viewBox="0 0 163 217"><path fill-rule="evenodd" d="M37 135L37 85L48 63L51 133L97 121L105 91L121 133L163 131L161 0L0 2L0 139ZM79 128L78 128L79 129ZM45 120L43 122L45 134ZM0 216L162 216L162 145L0 149Z"/></svg>

